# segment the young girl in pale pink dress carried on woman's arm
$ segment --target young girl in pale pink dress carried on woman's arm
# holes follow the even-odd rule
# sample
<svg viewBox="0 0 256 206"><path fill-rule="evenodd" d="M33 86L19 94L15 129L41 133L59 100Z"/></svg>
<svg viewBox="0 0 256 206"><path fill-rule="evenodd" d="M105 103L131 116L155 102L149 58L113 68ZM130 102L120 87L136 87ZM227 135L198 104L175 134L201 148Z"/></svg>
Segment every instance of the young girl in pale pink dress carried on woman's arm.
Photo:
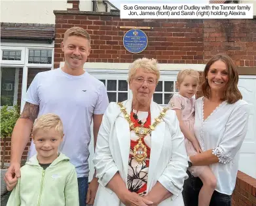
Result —
<svg viewBox="0 0 256 206"><path fill-rule="evenodd" d="M185 136L185 147L187 155L192 156L197 152L202 152L200 144L194 135L194 95L199 84L199 74L192 69L179 71L177 75L176 87L179 94L174 94L170 99L169 107L173 109L179 120L179 126ZM191 175L199 177L203 186L198 197L198 206L210 205L211 196L215 190L215 176L208 166L189 167Z"/></svg>

